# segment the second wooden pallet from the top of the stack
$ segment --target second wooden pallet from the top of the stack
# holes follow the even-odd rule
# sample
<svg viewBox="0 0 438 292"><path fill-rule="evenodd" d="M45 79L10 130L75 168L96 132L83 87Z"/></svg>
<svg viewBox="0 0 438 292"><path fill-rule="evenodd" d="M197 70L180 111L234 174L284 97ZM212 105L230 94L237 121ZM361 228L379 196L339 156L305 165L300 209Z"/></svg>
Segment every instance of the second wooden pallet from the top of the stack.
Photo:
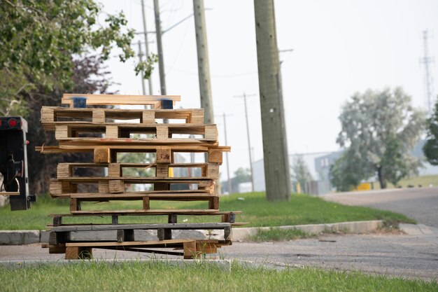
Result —
<svg viewBox="0 0 438 292"><path fill-rule="evenodd" d="M183 120L185 124L204 124L204 109L74 109L58 106L41 108L41 123L46 131L55 125L105 124L114 120L131 120L134 125L155 125L162 119Z"/></svg>

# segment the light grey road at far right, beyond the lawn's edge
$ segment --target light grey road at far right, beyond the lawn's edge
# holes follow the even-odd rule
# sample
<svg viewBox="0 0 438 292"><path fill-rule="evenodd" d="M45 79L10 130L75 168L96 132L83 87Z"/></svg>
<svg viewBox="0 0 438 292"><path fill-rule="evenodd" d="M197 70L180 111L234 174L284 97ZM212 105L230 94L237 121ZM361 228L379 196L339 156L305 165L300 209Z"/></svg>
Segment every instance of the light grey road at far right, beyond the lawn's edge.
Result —
<svg viewBox="0 0 438 292"><path fill-rule="evenodd" d="M341 204L395 211L438 228L438 188L404 188L322 195Z"/></svg>

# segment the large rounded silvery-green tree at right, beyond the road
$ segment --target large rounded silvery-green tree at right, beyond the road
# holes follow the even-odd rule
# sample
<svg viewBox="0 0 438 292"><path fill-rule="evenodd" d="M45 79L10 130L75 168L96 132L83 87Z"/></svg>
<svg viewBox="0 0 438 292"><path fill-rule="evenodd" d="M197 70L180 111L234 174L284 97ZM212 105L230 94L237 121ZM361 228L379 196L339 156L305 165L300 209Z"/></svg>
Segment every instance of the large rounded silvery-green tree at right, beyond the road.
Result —
<svg viewBox="0 0 438 292"><path fill-rule="evenodd" d="M337 143L346 150L331 168L332 183L358 186L376 175L381 188L418 173L421 161L409 154L421 136L425 113L411 106L402 88L355 93L342 107Z"/></svg>

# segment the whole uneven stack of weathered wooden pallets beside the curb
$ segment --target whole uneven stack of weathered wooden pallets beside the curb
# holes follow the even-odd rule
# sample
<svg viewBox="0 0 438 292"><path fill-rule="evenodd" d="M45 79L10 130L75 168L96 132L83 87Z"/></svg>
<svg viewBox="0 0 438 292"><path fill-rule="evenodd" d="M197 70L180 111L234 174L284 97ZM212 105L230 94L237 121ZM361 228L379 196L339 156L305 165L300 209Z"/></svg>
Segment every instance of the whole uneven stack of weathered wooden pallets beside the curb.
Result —
<svg viewBox="0 0 438 292"><path fill-rule="evenodd" d="M72 97L85 97L88 108L73 108ZM231 244L231 227L236 211L219 211L219 197L215 181L219 179L222 153L229 146L218 146L216 125L204 124L203 109L162 109L162 100L174 103L179 96L125 95L64 95L62 104L69 107L43 106L41 123L46 131L55 131L57 146L38 146L41 153L91 152L93 161L59 163L57 179L50 181L50 195L70 200L70 214L51 214L51 253L66 253L66 258L80 258L92 248L123 249L152 252L144 247L183 249L153 251L181 254L192 258L199 253L215 253L222 245ZM107 109L108 105L149 105L152 109ZM100 106L100 107L99 107ZM104 108L102 108L104 106ZM163 119L171 122L160 123ZM122 122L120 122L122 120ZM129 123L127 123L129 122ZM134 122L134 123L133 123ZM152 153L150 162L119 162L120 153ZM177 163L176 153L206 153L206 162ZM83 177L76 169L100 167L107 175ZM200 176L173 176L173 169L198 168ZM153 169L153 176L128 176L127 168ZM132 172L129 172L132 173ZM136 184L147 184L150 190L137 191ZM80 193L80 185L94 185L94 191ZM174 186L178 185L176 190ZM183 186L183 188L181 188ZM185 186L185 187L184 187ZM138 209L89 209L83 202L138 200ZM153 200L169 201L169 209L154 209ZM206 201L206 209L171 209L172 202ZM87 204L87 207L90 207ZM125 215L164 215L168 223L119 224ZM220 223L178 223L178 215L221 215ZM111 224L71 225L62 222L68 216L111 216ZM223 240L172 239L172 230L224 230ZM139 240L135 230L157 230L157 240ZM87 239L74 241L78 232L113 232L114 240ZM97 233L96 233L97 234ZM109 234L109 233L108 233ZM76 236L77 237L77 236Z"/></svg>

